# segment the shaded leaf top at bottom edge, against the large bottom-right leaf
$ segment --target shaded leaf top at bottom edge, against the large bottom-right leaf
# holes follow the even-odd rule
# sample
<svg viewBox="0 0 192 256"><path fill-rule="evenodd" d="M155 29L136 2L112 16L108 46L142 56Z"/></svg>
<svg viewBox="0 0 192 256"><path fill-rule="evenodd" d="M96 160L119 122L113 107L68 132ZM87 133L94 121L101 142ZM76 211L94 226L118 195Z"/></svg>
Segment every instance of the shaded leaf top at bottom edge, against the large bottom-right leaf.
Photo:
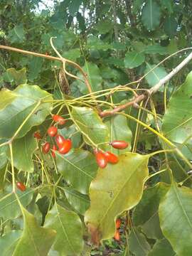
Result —
<svg viewBox="0 0 192 256"><path fill-rule="evenodd" d="M176 252L174 252L168 240L161 239L157 240L154 244L153 249L149 252L148 256L176 256Z"/></svg>

